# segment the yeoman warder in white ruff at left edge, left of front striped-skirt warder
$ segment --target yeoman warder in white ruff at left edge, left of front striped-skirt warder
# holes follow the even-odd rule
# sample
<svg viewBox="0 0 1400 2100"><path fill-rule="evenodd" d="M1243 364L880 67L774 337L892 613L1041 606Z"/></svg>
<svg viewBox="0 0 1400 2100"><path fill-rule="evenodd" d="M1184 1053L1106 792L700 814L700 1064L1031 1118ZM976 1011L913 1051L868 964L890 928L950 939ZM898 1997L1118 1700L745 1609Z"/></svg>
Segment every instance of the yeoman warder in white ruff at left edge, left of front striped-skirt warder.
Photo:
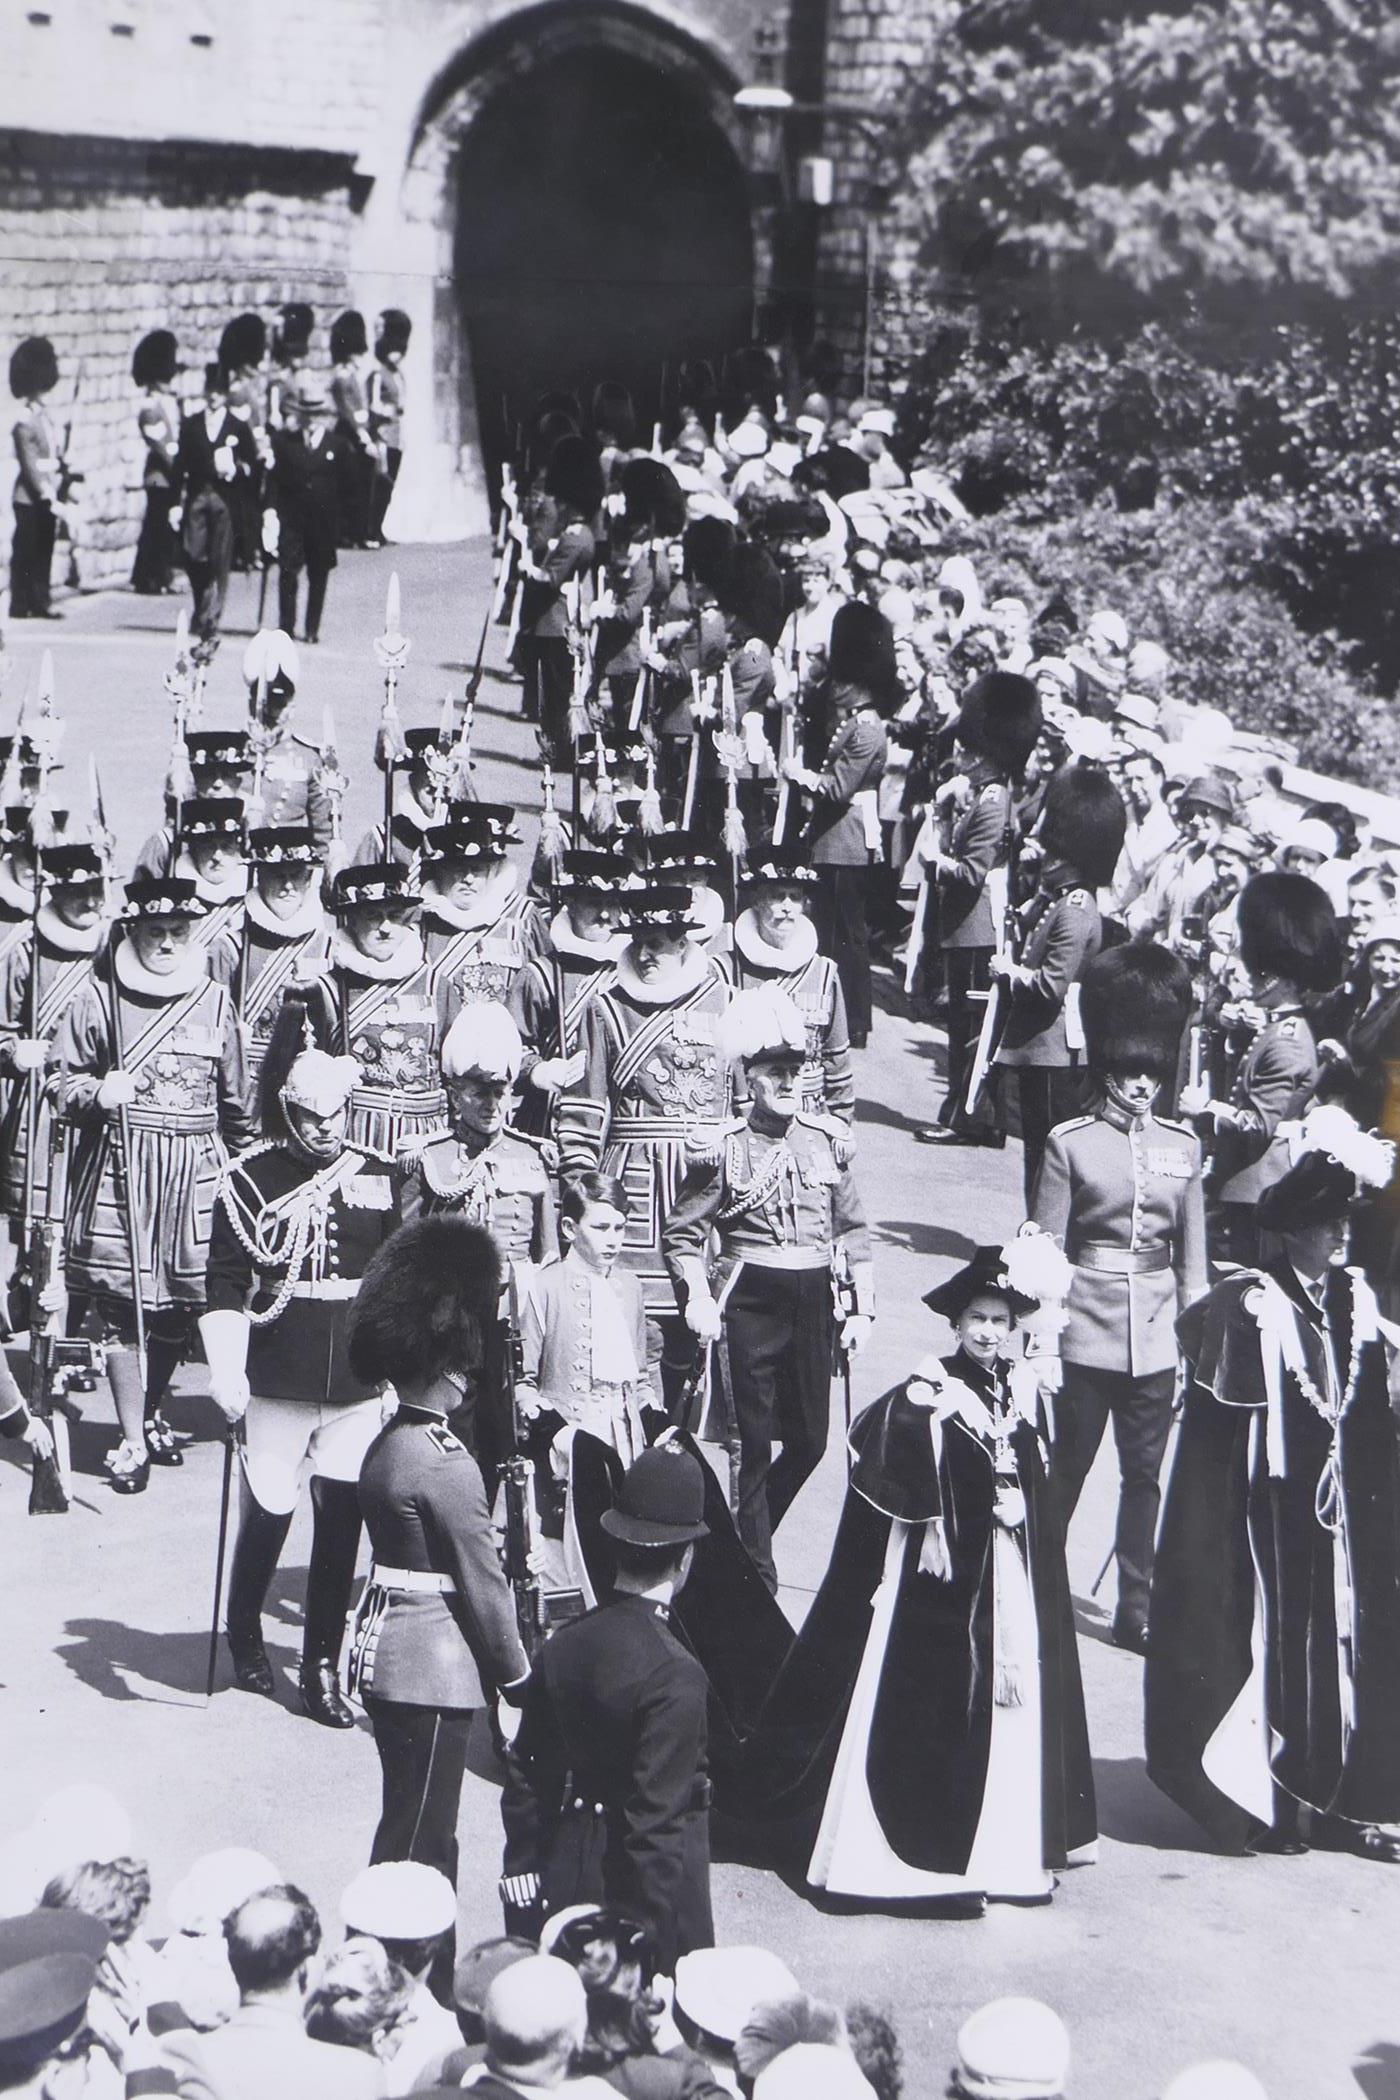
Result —
<svg viewBox="0 0 1400 2100"><path fill-rule="evenodd" d="M42 1210L48 1159L42 1075L59 1025L92 976L107 932L107 863L97 846L40 848L40 884L29 939L17 941L0 960L0 1210L10 1220L10 1233Z"/></svg>

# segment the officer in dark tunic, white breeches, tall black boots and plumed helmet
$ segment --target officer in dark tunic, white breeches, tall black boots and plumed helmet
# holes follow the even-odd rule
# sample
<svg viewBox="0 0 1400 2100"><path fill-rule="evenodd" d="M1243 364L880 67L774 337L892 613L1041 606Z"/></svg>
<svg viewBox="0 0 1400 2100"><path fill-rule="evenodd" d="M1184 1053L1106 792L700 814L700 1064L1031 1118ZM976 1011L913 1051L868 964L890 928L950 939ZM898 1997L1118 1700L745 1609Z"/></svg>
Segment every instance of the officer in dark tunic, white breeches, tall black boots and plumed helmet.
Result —
<svg viewBox="0 0 1400 2100"><path fill-rule="evenodd" d="M275 1699L262 1600L311 1472L300 1695L311 1720L351 1728L336 1670L359 1552L359 1468L384 1409L346 1359L359 1279L395 1224L388 1170L344 1142L353 1058L302 1048L288 1006L262 1063L262 1128L225 1174L199 1321L210 1392L243 1422L243 1516L229 1577L229 1651L246 1693Z"/></svg>

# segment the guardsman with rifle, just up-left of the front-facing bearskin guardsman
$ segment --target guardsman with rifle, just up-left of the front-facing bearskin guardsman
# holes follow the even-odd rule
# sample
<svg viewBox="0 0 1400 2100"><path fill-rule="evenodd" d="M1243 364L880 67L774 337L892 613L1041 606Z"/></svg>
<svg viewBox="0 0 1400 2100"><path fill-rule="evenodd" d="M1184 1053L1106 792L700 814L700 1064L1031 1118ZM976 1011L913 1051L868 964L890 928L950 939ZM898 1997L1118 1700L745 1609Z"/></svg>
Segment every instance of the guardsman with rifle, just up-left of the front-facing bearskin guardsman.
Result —
<svg viewBox="0 0 1400 2100"><path fill-rule="evenodd" d="M1024 916L1022 956L993 956L991 974L1010 985L995 1063L1016 1073L1026 1210L1045 1138L1085 1100L1079 979L1104 939L1096 890L1112 880L1125 830L1123 798L1102 766L1060 766L1045 790L1045 859Z"/></svg>

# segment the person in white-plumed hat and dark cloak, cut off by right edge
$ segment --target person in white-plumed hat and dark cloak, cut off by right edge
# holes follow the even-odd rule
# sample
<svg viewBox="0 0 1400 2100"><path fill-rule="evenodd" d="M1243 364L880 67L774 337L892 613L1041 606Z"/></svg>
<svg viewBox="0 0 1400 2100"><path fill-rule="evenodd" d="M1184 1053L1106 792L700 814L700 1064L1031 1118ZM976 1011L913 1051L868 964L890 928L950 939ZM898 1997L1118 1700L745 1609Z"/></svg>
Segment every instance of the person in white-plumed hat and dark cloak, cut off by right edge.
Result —
<svg viewBox="0 0 1400 2100"><path fill-rule="evenodd" d="M1337 1107L1259 1197L1280 1250L1180 1321L1182 1434L1152 1579L1148 1777L1226 1852L1400 1858L1400 1342L1345 1262L1394 1147Z"/></svg>

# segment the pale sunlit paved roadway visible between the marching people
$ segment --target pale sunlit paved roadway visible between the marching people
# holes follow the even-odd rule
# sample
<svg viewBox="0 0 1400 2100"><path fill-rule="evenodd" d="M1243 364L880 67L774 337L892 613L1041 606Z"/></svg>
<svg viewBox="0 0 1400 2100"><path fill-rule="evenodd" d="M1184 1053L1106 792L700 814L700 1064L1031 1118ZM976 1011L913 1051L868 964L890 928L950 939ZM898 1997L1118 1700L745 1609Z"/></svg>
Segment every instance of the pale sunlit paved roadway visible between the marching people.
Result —
<svg viewBox="0 0 1400 2100"><path fill-rule="evenodd" d="M434 720L460 693L474 655L485 550L401 548L357 554L332 578L327 638L302 651L298 720L319 733L334 701L340 754L355 775L346 832L376 811L369 764L378 708L372 636L390 567L403 584L413 653L401 689L405 722ZM10 628L4 727L55 653L67 716L67 792L86 796L86 754L99 750L109 819L124 865L160 815L168 750L162 672L178 601L103 594L69 605L52 628ZM229 638L214 664L208 720L241 710L237 662L252 630L252 584L235 578ZM523 762L531 737L516 689L500 672L500 630L479 708L483 796L537 811ZM533 838L533 823L525 825ZM875 1220L882 1319L856 1373L856 1401L905 1373L945 1329L919 1298L972 1241L1020 1218L1020 1155L930 1155L907 1130L936 1100L928 1029L884 1012L858 1056L858 1176ZM0 1470L0 1648L4 1808L0 1835L57 1785L92 1777L122 1796L162 1890L216 1844L267 1850L334 1919L336 1894L363 1863L378 1804L367 1728L330 1735L262 1701L218 1690L206 1707L218 1445L201 1371L181 1380L176 1422L197 1441L183 1472L155 1472L145 1497L122 1502L97 1476L113 1436L107 1407L78 1434L80 1502L67 1520L29 1520L23 1483ZM779 1537L793 1617L821 1577L842 1497L840 1438ZM716 1867L716 1919L728 1942L783 1951L802 1982L833 1999L886 2001L903 2033L907 2092L942 2092L959 2020L1001 1993L1033 1993L1070 2024L1075 2100L1152 2100L1203 2056L1240 2056L1274 2100L1400 2094L1400 1873L1331 1854L1224 1861L1142 1768L1140 1665L1106 1642L1089 1602L1112 1522L1112 1478L1100 1464L1070 1541L1081 1648L1096 1747L1102 1848L1098 1867L1066 1877L1054 1905L995 1909L974 1924L823 1915L768 1873ZM294 1665L306 1560L304 1512L273 1586L275 1659ZM222 1670L227 1684L227 1667ZM489 1749L468 1777L462 1810L462 1932L500 1930L497 1814Z"/></svg>

